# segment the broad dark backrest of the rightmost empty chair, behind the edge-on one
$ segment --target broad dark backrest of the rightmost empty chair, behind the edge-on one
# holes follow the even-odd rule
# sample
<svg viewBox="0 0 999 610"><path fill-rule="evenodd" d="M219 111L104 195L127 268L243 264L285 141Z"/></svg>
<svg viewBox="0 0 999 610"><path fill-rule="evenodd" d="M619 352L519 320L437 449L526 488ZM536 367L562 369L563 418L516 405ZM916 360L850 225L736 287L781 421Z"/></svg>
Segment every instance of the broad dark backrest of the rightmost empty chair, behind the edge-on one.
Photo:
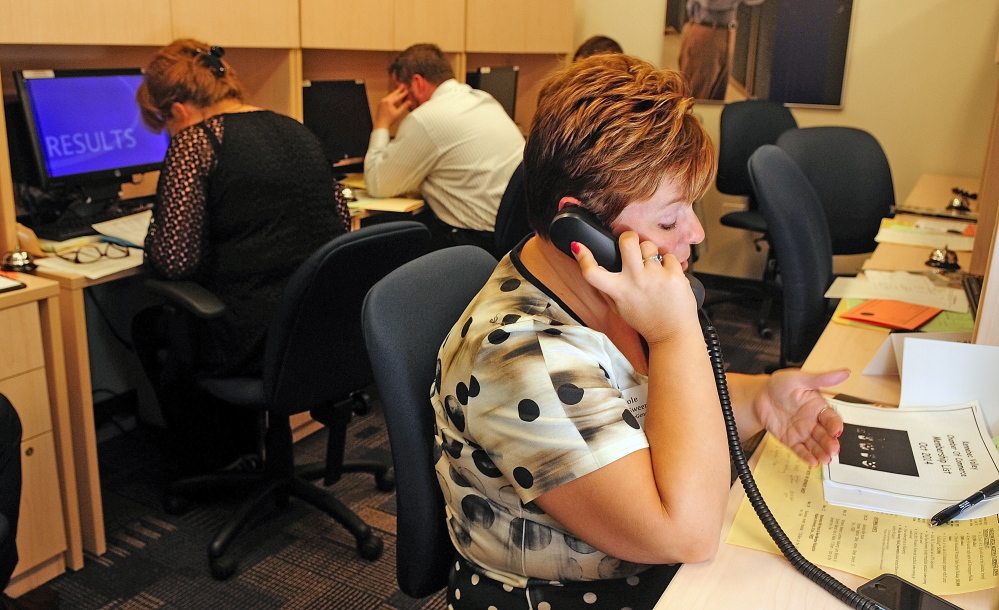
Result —
<svg viewBox="0 0 999 610"><path fill-rule="evenodd" d="M884 150L854 127L805 127L777 139L825 209L834 255L873 252L881 219L895 210L895 187Z"/></svg>

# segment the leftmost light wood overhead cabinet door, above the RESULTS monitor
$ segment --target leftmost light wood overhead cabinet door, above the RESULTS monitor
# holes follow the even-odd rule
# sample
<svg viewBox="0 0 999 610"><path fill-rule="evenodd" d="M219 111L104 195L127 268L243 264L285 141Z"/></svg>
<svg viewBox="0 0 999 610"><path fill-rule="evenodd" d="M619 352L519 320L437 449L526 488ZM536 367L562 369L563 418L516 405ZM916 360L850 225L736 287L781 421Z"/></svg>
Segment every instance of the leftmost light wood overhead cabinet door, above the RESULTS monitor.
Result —
<svg viewBox="0 0 999 610"><path fill-rule="evenodd" d="M3 0L0 43L162 45L170 0Z"/></svg>

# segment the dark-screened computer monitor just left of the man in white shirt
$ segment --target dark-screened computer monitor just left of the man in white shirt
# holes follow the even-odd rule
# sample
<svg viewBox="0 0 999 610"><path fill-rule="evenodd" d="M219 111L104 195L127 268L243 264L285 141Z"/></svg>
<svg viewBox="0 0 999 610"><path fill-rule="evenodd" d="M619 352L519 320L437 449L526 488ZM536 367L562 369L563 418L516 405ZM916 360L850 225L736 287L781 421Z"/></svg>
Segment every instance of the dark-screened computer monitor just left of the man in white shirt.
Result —
<svg viewBox="0 0 999 610"><path fill-rule="evenodd" d="M364 170L373 125L363 80L306 81L302 113L337 173Z"/></svg>

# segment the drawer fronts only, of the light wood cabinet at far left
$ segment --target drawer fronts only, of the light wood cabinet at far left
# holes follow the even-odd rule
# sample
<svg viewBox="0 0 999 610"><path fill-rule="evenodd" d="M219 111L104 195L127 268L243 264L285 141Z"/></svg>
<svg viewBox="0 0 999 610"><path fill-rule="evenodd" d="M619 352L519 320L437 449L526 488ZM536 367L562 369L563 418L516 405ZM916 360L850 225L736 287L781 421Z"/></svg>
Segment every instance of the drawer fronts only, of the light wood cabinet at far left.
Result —
<svg viewBox="0 0 999 610"><path fill-rule="evenodd" d="M25 303L0 310L0 393L21 418L21 516L17 528L20 561L9 591L33 588L31 572L62 562L66 551L62 497L52 436L52 414L42 352L38 304Z"/></svg>

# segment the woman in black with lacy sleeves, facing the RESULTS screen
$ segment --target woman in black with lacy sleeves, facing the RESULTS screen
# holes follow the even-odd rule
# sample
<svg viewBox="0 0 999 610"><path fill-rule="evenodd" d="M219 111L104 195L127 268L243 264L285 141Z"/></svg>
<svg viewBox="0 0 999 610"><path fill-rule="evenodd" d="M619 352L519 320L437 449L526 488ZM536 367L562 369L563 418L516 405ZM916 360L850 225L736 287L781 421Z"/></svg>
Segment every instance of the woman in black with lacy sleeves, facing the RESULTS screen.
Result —
<svg viewBox="0 0 999 610"><path fill-rule="evenodd" d="M155 275L196 282L226 306L199 333L193 370L184 374L159 366L167 331L162 308L133 321L164 419L199 470L219 465L206 452L233 457L233 444L252 451L256 415L207 405L183 378L259 375L267 325L285 284L350 222L318 139L290 117L247 104L223 56L201 41L174 41L156 53L136 94L147 126L170 134L146 262Z"/></svg>

